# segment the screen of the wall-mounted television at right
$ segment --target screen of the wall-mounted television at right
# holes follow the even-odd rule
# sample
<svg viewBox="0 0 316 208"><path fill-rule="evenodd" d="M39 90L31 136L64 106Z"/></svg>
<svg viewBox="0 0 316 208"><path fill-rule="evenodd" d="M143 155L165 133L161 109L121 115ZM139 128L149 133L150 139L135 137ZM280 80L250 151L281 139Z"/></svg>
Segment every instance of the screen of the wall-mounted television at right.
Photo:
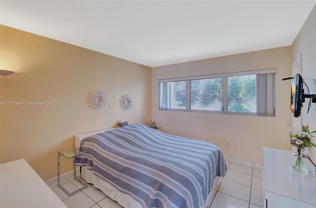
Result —
<svg viewBox="0 0 316 208"><path fill-rule="evenodd" d="M294 117L301 116L303 101L303 80L300 74L296 74L292 79L291 104L290 109Z"/></svg>

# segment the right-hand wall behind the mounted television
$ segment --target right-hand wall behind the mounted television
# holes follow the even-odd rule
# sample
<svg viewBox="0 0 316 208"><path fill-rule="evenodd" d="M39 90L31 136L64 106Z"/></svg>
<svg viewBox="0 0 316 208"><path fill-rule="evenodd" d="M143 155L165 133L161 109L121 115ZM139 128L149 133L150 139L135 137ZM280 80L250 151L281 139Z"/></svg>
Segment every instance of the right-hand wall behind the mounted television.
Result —
<svg viewBox="0 0 316 208"><path fill-rule="evenodd" d="M302 77L305 78L304 80L310 89L310 93L315 94L314 82L308 79L314 79L316 76L316 6L292 45L291 61L293 62L300 54L302 54ZM308 93L305 86L304 89L305 93ZM305 106L302 108L302 124L309 125L310 129L314 131L316 130L316 111L310 109L310 112L307 114L308 101L309 99L306 99ZM316 109L316 103L312 103L312 107ZM316 138L313 138L312 142L316 144ZM315 148L310 149L310 158L316 165Z"/></svg>

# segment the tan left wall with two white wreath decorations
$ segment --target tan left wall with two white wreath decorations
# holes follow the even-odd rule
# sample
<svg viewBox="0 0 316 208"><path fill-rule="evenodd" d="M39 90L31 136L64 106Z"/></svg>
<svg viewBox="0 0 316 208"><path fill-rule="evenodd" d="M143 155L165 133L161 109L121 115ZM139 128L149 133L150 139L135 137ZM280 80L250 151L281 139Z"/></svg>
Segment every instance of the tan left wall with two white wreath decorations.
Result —
<svg viewBox="0 0 316 208"><path fill-rule="evenodd" d="M57 175L57 150L74 146L74 135L151 119L150 67L1 26L0 102L64 102L63 106L0 106L0 163L25 158L44 180ZM94 89L108 96L106 108L88 106ZM124 111L119 97L130 94ZM109 107L110 106L110 107ZM73 170L62 161L62 173Z"/></svg>

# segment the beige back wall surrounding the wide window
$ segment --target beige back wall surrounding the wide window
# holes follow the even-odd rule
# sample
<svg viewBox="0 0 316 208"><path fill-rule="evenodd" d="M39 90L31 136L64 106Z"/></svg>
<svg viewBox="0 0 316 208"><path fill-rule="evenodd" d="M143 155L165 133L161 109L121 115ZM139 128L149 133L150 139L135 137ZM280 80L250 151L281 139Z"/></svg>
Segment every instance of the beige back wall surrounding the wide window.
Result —
<svg viewBox="0 0 316 208"><path fill-rule="evenodd" d="M225 157L262 164L262 148L290 149L291 47L153 68L153 119L161 130L217 144ZM276 68L276 117L159 111L158 79ZM230 147L226 147L230 142Z"/></svg>

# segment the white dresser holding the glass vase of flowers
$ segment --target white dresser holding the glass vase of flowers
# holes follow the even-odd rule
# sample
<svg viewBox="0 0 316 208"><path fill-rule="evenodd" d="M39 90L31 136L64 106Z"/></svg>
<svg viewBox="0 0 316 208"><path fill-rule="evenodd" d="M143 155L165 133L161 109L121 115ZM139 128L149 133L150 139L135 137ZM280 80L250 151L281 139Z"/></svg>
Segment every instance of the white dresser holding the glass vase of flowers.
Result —
<svg viewBox="0 0 316 208"><path fill-rule="evenodd" d="M316 208L315 167L303 158L309 173L293 170L291 153L263 148L264 208Z"/></svg>

